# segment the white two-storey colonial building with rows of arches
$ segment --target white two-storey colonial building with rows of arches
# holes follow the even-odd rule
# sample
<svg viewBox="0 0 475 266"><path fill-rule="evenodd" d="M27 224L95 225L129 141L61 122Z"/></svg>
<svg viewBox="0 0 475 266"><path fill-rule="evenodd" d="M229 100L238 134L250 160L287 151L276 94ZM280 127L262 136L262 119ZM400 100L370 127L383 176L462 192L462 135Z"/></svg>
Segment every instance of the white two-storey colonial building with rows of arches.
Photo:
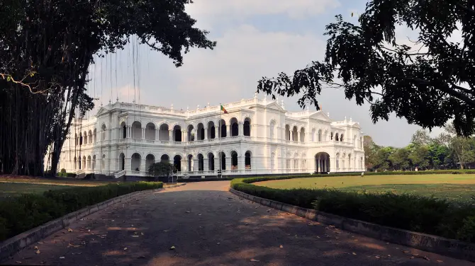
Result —
<svg viewBox="0 0 475 266"><path fill-rule="evenodd" d="M240 100L173 108L109 103L77 120L59 168L72 173L145 176L160 160L181 176L364 171L363 135L352 119L320 111L289 112L277 100ZM220 160L221 158L221 160Z"/></svg>

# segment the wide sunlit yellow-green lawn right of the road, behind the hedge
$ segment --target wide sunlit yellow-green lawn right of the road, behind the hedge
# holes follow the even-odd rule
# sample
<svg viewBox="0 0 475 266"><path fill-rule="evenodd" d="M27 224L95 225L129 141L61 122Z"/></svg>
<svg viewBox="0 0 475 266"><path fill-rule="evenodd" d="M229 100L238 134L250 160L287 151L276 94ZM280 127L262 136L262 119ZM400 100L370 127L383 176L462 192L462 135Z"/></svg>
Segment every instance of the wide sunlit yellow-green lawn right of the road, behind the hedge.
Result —
<svg viewBox="0 0 475 266"><path fill-rule="evenodd" d="M393 192L469 201L475 195L474 175L367 175L295 178L253 183L273 188L335 188L342 191Z"/></svg>

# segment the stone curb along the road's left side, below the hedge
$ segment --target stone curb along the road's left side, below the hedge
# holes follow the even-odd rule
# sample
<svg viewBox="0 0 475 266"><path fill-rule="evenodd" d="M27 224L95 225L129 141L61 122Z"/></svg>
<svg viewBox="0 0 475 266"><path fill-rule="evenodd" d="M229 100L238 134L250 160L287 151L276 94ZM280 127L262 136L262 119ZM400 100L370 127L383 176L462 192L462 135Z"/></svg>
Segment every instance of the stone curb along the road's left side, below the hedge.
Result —
<svg viewBox="0 0 475 266"><path fill-rule="evenodd" d="M104 202L99 202L97 204L84 207L82 209L77 210L76 212L71 212L62 216L60 218L54 219L52 221L48 221L45 224L37 226L33 229L30 229L26 232L20 233L12 238L6 239L5 241L0 243L0 262L4 262L8 260L11 256L15 255L19 251L23 250L23 248L28 247L32 243L38 242L47 236L56 233L62 229L65 229L69 224L74 223L74 221L79 221L79 219L84 218L85 216L94 214L99 212L102 209L106 209L106 207L116 204L118 202L125 202L128 199L135 197L137 195L157 192L160 190L166 190L167 188L172 187L181 187L182 185L186 185L186 183L181 183L177 185L169 185L167 187L158 188L155 190L141 190L132 193L128 193L125 195L121 195L118 197L113 197L112 199L107 199Z"/></svg>

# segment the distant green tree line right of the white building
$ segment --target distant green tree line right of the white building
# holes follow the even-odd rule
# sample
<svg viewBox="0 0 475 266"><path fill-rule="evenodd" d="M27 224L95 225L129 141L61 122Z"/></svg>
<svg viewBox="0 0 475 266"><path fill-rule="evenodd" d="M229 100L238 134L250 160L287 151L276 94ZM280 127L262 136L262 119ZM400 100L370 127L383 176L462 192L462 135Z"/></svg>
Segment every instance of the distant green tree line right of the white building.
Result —
<svg viewBox="0 0 475 266"><path fill-rule="evenodd" d="M428 170L475 168L475 138L459 137L452 124L432 138L424 129L413 134L408 146L380 146L367 136L364 154L367 170Z"/></svg>

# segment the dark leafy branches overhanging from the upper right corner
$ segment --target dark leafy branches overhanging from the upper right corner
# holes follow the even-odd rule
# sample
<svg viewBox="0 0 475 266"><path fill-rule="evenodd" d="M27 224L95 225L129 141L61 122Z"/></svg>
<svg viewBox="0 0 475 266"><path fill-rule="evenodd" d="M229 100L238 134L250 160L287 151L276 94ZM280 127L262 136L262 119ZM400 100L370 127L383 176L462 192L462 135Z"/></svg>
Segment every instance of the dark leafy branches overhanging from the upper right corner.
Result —
<svg viewBox="0 0 475 266"><path fill-rule="evenodd" d="M262 78L257 91L300 96L315 105L323 87L345 89L358 105L370 104L371 118L389 120L395 112L425 128L454 121L457 134L475 132L475 4L473 0L371 0L359 23L326 26L323 62L311 62L293 76ZM415 47L399 45L396 26L418 37ZM459 42L450 37L461 33Z"/></svg>

